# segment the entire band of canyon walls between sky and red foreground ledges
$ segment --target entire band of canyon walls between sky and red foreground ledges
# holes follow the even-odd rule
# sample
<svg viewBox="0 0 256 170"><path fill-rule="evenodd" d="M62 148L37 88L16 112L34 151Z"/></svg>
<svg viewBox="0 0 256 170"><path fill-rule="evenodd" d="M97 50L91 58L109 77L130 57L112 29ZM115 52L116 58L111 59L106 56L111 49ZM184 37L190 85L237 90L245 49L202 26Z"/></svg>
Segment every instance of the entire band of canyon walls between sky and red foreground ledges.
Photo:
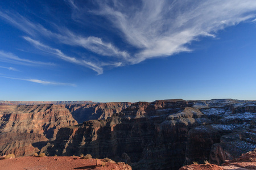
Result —
<svg viewBox="0 0 256 170"><path fill-rule="evenodd" d="M1 105L0 154L91 154L133 169L220 165L256 148L256 101Z"/></svg>

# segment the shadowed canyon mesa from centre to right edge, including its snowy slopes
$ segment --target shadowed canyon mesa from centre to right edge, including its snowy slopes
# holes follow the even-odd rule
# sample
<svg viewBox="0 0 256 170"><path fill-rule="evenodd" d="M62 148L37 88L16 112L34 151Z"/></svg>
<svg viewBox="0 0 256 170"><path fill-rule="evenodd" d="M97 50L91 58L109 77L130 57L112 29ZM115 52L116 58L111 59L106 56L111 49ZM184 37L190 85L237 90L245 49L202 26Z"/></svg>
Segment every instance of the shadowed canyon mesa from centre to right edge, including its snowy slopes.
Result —
<svg viewBox="0 0 256 170"><path fill-rule="evenodd" d="M237 152L221 147L220 152L232 158L256 147L254 105L255 101L232 99L133 103L106 120L61 128L52 145L44 149L50 155L92 154L116 161L125 153L134 169L179 169L204 160L221 163L225 158L214 146L225 135L236 134L240 140L234 139L241 144Z"/></svg>

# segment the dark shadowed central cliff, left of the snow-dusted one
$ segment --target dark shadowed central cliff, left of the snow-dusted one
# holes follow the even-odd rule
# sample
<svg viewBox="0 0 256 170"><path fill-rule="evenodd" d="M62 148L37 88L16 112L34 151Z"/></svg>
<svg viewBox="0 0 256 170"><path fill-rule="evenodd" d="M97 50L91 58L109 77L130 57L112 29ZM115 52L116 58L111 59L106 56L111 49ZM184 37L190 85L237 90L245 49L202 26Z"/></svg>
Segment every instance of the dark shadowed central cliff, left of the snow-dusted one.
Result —
<svg viewBox="0 0 256 170"><path fill-rule="evenodd" d="M184 163L188 131L212 122L192 105L192 101L134 103L107 120L61 128L47 152L117 161L126 153L135 169L177 169Z"/></svg>

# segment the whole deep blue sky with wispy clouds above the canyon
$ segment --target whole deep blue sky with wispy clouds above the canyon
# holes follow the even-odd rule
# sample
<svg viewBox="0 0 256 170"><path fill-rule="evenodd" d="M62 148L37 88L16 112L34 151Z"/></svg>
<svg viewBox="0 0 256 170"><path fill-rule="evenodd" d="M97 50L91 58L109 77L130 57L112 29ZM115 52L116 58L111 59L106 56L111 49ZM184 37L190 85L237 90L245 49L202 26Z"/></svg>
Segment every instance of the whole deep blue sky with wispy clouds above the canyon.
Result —
<svg viewBox="0 0 256 170"><path fill-rule="evenodd" d="M256 99L256 1L1 1L0 100Z"/></svg>

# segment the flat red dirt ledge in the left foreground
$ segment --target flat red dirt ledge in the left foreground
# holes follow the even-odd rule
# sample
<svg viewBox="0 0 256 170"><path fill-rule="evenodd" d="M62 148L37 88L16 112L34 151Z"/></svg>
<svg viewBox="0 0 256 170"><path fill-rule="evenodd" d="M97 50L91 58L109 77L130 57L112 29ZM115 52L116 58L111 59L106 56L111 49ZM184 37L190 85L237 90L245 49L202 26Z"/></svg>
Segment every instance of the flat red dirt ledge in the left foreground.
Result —
<svg viewBox="0 0 256 170"><path fill-rule="evenodd" d="M3 158L3 157L2 157ZM0 158L1 159L1 158ZM96 166L97 159L80 159L78 156L26 156L14 159L1 159L0 169L8 170L66 170L66 169L127 169L131 167L125 163L111 163L101 160L104 166Z"/></svg>

